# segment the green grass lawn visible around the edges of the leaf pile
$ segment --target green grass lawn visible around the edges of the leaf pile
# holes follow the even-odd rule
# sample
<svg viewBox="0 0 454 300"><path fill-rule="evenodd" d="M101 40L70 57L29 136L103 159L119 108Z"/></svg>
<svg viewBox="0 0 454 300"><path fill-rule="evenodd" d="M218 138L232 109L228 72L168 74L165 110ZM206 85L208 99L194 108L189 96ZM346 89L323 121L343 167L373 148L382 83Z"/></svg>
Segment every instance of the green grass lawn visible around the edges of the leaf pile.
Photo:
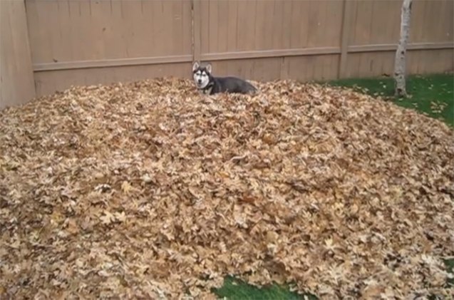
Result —
<svg viewBox="0 0 454 300"><path fill-rule="evenodd" d="M429 76L409 76L407 80L408 98L393 97L393 78L359 78L344 79L329 82L331 86L354 88L369 95L381 96L392 100L396 105L413 108L432 118L443 120L454 127L454 75L433 74ZM445 261L451 273L454 273L454 259ZM454 279L447 284L454 286ZM227 278L224 286L215 291L220 298L225 299L304 299L304 296L292 293L281 286L269 286L258 289L242 281ZM307 299L316 299L307 295Z"/></svg>

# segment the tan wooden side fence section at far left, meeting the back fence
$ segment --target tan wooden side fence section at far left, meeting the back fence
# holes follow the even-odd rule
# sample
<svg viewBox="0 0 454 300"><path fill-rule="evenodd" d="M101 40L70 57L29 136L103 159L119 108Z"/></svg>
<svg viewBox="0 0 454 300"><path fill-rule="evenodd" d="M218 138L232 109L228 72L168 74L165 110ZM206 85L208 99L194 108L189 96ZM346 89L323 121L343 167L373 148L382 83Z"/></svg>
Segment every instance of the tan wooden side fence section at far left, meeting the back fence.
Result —
<svg viewBox="0 0 454 300"><path fill-rule="evenodd" d="M25 1L0 0L0 109L36 95Z"/></svg>

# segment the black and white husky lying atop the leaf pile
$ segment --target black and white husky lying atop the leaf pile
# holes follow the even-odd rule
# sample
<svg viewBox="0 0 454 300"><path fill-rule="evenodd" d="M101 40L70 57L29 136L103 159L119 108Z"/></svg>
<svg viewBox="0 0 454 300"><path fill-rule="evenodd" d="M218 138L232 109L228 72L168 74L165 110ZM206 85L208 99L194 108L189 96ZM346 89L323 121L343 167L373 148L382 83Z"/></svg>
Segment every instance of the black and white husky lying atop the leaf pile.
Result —
<svg viewBox="0 0 454 300"><path fill-rule="evenodd" d="M208 63L206 66L200 66L197 61L192 65L192 77L195 86L202 93L213 95L215 93L257 93L257 88L251 83L237 77L215 77L212 76L212 66Z"/></svg>

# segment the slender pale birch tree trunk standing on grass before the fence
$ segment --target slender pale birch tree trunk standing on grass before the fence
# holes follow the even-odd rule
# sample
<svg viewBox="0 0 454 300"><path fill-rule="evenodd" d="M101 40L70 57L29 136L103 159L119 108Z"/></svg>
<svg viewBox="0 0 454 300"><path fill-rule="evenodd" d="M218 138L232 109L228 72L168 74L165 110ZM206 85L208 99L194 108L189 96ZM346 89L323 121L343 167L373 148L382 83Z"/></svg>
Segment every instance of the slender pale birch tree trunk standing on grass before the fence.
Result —
<svg viewBox="0 0 454 300"><path fill-rule="evenodd" d="M401 38L394 61L394 80L396 81L396 96L406 96L406 51L408 37L410 36L411 4L413 0L403 0L401 11Z"/></svg>

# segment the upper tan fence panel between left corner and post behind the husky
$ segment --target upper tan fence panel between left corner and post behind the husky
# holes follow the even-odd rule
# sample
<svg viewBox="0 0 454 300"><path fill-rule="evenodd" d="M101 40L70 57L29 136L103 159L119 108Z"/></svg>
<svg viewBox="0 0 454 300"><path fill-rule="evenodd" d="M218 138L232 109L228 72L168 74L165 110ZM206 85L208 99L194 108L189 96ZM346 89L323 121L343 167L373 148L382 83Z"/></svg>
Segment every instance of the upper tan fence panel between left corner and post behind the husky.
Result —
<svg viewBox="0 0 454 300"><path fill-rule="evenodd" d="M26 0L33 63L192 55L191 5Z"/></svg>

